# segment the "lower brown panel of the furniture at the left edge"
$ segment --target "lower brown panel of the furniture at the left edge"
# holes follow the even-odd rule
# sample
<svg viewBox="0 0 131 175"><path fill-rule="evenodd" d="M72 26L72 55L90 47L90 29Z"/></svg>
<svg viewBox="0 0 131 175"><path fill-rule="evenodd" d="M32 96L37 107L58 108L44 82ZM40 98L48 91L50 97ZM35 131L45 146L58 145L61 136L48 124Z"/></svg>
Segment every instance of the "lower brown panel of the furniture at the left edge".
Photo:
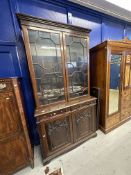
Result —
<svg viewBox="0 0 131 175"><path fill-rule="evenodd" d="M0 142L1 175L9 175L29 164L26 147L25 139L22 136Z"/></svg>

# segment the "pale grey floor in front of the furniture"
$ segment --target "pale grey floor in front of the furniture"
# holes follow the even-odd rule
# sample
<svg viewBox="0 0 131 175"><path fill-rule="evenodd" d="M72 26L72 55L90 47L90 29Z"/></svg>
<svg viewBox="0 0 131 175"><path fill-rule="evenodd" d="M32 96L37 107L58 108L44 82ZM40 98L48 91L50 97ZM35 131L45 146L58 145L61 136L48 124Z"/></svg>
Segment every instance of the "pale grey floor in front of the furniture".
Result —
<svg viewBox="0 0 131 175"><path fill-rule="evenodd" d="M51 174L61 168L62 175L131 175L131 121L107 135L98 136L76 149L52 160L47 166L41 162L40 149L35 147L35 168L15 175Z"/></svg>

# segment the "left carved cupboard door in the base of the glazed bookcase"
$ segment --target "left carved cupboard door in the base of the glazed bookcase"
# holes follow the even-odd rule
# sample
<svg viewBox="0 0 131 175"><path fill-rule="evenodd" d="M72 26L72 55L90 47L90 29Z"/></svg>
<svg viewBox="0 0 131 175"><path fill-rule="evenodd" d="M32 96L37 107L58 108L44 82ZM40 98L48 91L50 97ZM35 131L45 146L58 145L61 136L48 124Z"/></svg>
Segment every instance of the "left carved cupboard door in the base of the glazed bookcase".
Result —
<svg viewBox="0 0 131 175"><path fill-rule="evenodd" d="M63 114L40 123L45 154L51 154L72 144L71 114Z"/></svg>

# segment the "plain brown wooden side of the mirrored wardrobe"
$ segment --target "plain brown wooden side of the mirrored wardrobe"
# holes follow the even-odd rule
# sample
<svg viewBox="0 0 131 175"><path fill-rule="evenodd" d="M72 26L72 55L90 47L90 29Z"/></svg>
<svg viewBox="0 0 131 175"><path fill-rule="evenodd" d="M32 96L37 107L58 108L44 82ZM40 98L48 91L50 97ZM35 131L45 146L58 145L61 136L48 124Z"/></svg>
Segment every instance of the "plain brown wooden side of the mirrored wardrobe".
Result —
<svg viewBox="0 0 131 175"><path fill-rule="evenodd" d="M100 47L90 51L90 82L91 87L100 88L100 119L99 124L105 127L106 117L106 48Z"/></svg>

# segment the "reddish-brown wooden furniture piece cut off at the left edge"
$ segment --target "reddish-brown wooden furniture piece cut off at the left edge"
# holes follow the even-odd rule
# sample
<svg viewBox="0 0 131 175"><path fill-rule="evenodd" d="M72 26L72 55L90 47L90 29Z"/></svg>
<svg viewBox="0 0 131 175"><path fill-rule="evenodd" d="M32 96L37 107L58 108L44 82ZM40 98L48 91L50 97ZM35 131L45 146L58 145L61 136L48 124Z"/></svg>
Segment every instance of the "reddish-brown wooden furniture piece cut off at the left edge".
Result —
<svg viewBox="0 0 131 175"><path fill-rule="evenodd" d="M19 80L0 79L0 175L33 166Z"/></svg>

